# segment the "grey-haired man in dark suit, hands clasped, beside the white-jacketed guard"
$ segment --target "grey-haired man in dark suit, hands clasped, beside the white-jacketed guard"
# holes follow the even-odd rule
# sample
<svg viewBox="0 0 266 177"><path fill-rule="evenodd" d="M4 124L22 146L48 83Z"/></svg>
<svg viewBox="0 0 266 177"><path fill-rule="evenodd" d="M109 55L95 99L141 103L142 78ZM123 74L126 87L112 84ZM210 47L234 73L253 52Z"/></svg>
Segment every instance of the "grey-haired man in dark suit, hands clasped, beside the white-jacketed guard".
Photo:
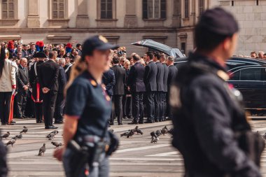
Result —
<svg viewBox="0 0 266 177"><path fill-rule="evenodd" d="M29 71L27 69L27 63L27 59L22 58L20 59L20 65L18 66L18 94L16 95L18 100L18 118L27 118L25 116L27 94L29 90Z"/></svg>

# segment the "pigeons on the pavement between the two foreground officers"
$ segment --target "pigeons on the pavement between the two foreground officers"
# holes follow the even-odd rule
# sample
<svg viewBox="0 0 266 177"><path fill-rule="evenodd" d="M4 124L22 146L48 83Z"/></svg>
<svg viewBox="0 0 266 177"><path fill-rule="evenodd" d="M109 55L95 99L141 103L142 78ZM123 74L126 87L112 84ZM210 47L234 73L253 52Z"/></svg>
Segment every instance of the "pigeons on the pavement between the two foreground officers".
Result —
<svg viewBox="0 0 266 177"><path fill-rule="evenodd" d="M113 130L112 130L113 131ZM168 129L167 126L163 127L162 129L158 129L156 131L151 132L151 143L157 143L157 141L159 140L159 136L163 135L165 136L165 134L172 134L173 129ZM141 134L143 135L144 133L141 131L141 129L139 129L139 126L135 127L134 129L129 129L127 130L127 132L124 132L123 134L120 134L120 137L127 137L127 139L132 138L132 136L134 134Z"/></svg>

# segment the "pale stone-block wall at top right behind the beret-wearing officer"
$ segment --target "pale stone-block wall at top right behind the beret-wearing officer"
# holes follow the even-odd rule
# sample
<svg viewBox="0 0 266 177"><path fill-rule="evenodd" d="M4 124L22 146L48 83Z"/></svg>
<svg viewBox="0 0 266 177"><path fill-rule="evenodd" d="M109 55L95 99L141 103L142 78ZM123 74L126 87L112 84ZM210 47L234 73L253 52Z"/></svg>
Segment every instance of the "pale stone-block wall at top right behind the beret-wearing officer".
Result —
<svg viewBox="0 0 266 177"><path fill-rule="evenodd" d="M236 55L250 55L251 51L266 52L265 0L212 0L212 6L229 10L238 20L239 43Z"/></svg>

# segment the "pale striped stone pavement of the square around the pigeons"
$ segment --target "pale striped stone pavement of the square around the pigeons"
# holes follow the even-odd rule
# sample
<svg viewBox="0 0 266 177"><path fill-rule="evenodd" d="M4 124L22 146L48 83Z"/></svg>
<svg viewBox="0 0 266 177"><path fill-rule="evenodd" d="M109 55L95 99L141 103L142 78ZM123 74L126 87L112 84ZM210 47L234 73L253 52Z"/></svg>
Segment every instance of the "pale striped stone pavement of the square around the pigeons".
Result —
<svg viewBox="0 0 266 177"><path fill-rule="evenodd" d="M12 136L19 134L22 127L29 128L27 134L23 134L23 139L15 143L13 148L9 147L8 166L9 176L15 177L44 177L44 176L64 176L61 162L57 162L52 157L54 146L51 141L45 139L45 135L50 130L45 130L43 125L36 125L34 120L17 120L14 126L1 126L2 132L10 132ZM125 120L125 123L128 120ZM158 122L155 124L139 125L139 129L144 135L134 135L132 138L120 138L120 148L110 157L110 176L177 176L183 174L183 158L171 146L171 136L169 134L160 136L158 143L151 143L150 132L162 129L167 125L171 127L171 122ZM253 130L261 134L266 132L266 120L252 121ZM111 128L118 135L133 129L135 125L114 125ZM59 125L59 134L53 141L62 142L62 125ZM6 142L7 140L3 140ZM38 149L46 143L46 152L43 157L38 157ZM266 153L262 155L262 173L266 177Z"/></svg>

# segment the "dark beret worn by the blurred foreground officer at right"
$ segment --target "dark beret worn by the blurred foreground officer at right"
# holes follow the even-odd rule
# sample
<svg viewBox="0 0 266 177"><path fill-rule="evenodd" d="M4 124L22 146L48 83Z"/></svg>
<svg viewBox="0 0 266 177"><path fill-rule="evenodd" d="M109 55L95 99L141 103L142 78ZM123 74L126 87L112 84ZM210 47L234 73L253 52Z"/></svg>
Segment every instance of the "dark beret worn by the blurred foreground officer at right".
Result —
<svg viewBox="0 0 266 177"><path fill-rule="evenodd" d="M223 8L212 8L202 13L197 26L214 34L231 36L239 31L235 17Z"/></svg>

